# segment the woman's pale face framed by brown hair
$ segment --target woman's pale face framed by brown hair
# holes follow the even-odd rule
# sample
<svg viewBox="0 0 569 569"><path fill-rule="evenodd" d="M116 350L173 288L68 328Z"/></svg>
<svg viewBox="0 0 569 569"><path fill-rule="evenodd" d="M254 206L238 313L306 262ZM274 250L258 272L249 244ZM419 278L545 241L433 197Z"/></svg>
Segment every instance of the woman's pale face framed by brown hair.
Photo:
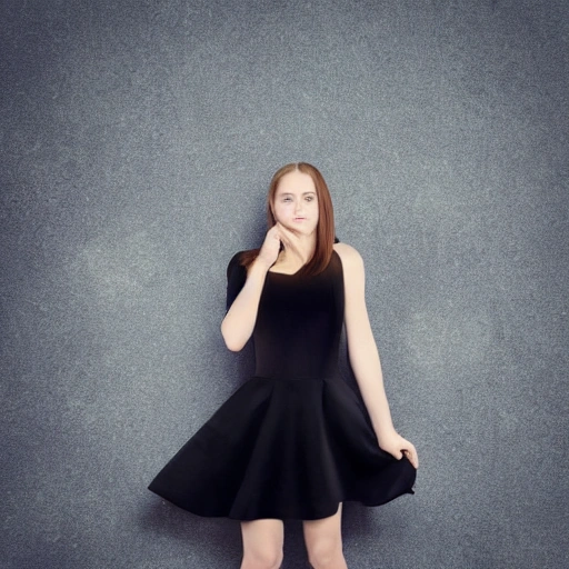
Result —
<svg viewBox="0 0 569 569"><path fill-rule="evenodd" d="M318 226L318 196L312 178L299 170L284 174L277 187L272 212L287 229L313 233Z"/></svg>

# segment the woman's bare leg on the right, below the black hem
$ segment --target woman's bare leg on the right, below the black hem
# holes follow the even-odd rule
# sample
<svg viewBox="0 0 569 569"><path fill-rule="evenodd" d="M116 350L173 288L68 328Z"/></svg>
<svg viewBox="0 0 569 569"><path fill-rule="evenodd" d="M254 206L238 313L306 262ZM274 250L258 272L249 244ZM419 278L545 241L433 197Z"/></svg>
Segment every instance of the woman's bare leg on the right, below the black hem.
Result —
<svg viewBox="0 0 569 569"><path fill-rule="evenodd" d="M308 559L315 569L348 569L342 552L342 505L330 518L305 521Z"/></svg>

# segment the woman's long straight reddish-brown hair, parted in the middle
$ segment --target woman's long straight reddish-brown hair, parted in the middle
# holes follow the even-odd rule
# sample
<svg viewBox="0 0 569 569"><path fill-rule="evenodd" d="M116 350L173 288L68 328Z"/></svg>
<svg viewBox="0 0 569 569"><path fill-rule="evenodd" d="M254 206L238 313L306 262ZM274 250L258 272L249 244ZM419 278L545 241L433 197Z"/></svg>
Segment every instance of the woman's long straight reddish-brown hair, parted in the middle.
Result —
<svg viewBox="0 0 569 569"><path fill-rule="evenodd" d="M279 182L283 176L289 172L298 170L299 172L306 173L312 178L316 188L316 194L318 200L318 224L316 227L316 248L311 259L300 269L299 276L311 277L322 272L332 257L333 243L335 243L335 224L333 224L333 208L328 186L317 168L307 162L292 162L286 164L272 177L269 186L269 193L267 194L267 226L270 229L277 223L274 216L272 214L272 203L277 196L277 189ZM257 256L260 249L252 249L251 251L244 251L241 254L240 263L248 268Z"/></svg>

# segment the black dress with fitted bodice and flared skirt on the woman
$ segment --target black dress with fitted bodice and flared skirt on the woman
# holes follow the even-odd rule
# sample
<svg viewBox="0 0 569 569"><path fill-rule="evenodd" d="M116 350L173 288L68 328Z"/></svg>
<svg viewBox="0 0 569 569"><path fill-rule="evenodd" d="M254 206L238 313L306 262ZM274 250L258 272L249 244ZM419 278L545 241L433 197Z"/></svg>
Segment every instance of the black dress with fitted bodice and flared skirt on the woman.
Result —
<svg viewBox="0 0 569 569"><path fill-rule="evenodd" d="M228 267L228 309L246 269ZM253 331L256 375L220 407L149 489L199 516L313 520L339 502L379 506L415 493L416 469L378 446L338 377L343 325L338 253L320 274L269 271Z"/></svg>

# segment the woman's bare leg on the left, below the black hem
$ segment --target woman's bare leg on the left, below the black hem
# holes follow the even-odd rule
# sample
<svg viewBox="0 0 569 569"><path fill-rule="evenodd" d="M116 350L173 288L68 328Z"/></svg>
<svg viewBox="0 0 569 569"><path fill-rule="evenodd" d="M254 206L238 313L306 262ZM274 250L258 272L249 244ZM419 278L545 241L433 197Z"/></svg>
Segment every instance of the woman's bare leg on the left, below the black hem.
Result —
<svg viewBox="0 0 569 569"><path fill-rule="evenodd" d="M241 522L243 561L241 569L279 569L282 563L284 529L281 520Z"/></svg>

